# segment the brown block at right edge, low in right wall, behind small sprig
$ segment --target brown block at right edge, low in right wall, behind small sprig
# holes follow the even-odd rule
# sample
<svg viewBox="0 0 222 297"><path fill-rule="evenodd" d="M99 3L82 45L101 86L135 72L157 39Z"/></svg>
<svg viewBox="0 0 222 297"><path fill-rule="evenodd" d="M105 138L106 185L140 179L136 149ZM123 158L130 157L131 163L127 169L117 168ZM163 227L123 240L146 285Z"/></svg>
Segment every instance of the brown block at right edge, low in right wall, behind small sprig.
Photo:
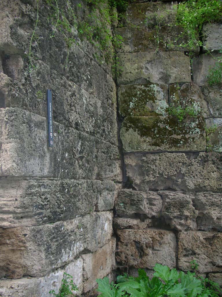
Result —
<svg viewBox="0 0 222 297"><path fill-rule="evenodd" d="M191 269L196 260L200 272L222 271L222 234L213 232L180 232L178 234L178 268Z"/></svg>

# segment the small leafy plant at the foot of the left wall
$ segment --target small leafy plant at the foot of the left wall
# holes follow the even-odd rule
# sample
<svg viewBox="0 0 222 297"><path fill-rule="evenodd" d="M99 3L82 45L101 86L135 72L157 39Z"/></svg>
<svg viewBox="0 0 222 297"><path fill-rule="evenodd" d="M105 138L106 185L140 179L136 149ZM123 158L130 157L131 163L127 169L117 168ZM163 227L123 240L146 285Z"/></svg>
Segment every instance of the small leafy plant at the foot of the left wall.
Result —
<svg viewBox="0 0 222 297"><path fill-rule="evenodd" d="M73 282L73 277L64 272L59 293L56 294L54 290L50 290L49 294L52 294L54 297L69 297L70 294L73 295L74 291L78 291L78 288Z"/></svg>

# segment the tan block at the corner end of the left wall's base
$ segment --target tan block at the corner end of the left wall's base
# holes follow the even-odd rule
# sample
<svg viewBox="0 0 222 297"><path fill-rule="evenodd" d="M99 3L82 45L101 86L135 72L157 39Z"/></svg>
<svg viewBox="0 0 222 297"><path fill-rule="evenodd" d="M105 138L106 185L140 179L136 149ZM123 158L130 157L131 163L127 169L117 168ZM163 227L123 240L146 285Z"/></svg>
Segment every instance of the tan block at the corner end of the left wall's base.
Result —
<svg viewBox="0 0 222 297"><path fill-rule="evenodd" d="M96 279L107 276L115 269L116 239L99 248L94 253L83 254L83 292L96 287Z"/></svg>

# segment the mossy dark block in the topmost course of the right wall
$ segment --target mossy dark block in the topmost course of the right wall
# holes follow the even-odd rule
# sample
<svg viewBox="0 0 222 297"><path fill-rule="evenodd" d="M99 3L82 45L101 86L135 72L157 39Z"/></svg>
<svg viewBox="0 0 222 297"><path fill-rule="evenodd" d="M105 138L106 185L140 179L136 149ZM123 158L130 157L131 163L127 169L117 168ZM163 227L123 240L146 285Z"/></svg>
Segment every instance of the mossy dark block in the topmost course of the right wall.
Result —
<svg viewBox="0 0 222 297"><path fill-rule="evenodd" d="M133 3L128 6L126 20L136 26L153 28L155 25L163 26L173 23L176 18L175 5L172 2L145 2Z"/></svg>

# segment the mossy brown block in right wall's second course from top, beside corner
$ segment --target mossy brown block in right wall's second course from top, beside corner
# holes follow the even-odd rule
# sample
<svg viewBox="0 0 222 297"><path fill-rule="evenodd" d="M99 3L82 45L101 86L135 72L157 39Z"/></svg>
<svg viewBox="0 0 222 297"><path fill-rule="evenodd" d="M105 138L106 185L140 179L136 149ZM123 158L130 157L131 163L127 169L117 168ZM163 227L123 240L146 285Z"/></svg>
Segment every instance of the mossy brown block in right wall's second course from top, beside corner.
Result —
<svg viewBox="0 0 222 297"><path fill-rule="evenodd" d="M164 41L167 35L165 26L157 32L155 28L149 29L146 25L133 27L128 24L127 27L115 29L115 34L123 38L122 46L118 49L119 53L149 52L157 49L165 51Z"/></svg>

